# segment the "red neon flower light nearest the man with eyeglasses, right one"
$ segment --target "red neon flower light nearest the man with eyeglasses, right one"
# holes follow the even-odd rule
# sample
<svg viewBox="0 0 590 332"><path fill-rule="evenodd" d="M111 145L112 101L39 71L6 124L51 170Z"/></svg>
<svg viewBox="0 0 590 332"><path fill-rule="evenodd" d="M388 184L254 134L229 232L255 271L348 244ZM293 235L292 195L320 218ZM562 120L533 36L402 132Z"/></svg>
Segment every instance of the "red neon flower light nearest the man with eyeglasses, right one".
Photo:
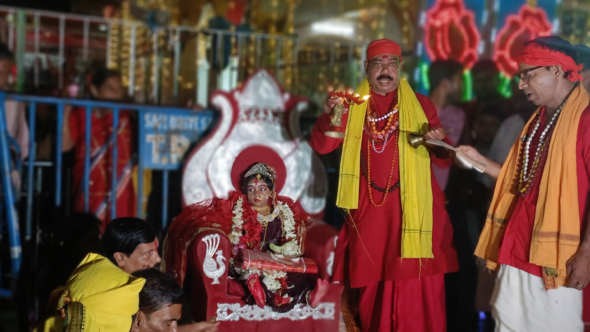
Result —
<svg viewBox="0 0 590 332"><path fill-rule="evenodd" d="M496 36L494 45L494 61L507 76L512 76L518 69L516 59L522 53L527 41L542 35L551 34L551 23L545 11L523 5L518 15L508 15L504 27Z"/></svg>

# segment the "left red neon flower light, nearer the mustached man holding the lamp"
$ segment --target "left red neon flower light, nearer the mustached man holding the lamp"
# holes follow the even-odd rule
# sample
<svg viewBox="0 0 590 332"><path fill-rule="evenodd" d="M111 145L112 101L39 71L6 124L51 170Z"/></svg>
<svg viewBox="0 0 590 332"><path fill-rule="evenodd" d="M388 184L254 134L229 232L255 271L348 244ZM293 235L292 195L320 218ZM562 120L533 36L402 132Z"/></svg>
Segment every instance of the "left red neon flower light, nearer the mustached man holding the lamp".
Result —
<svg viewBox="0 0 590 332"><path fill-rule="evenodd" d="M426 15L424 44L430 59L453 58L471 68L480 34L463 0L437 0Z"/></svg>

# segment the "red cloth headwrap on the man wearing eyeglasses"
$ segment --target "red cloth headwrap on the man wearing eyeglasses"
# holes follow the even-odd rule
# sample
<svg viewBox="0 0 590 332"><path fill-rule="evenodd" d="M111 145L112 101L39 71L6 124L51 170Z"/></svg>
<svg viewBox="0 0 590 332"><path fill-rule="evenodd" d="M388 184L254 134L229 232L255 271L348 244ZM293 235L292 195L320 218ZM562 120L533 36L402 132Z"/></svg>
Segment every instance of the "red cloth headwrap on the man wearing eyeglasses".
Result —
<svg viewBox="0 0 590 332"><path fill-rule="evenodd" d="M579 74L584 69L584 64L576 64L573 58L566 56L559 51L551 50L548 47L543 47L538 43L530 43L522 50L522 55L517 60L518 63L526 63L531 66L562 66L563 71L567 71L568 80L576 82L582 80L582 75Z"/></svg>

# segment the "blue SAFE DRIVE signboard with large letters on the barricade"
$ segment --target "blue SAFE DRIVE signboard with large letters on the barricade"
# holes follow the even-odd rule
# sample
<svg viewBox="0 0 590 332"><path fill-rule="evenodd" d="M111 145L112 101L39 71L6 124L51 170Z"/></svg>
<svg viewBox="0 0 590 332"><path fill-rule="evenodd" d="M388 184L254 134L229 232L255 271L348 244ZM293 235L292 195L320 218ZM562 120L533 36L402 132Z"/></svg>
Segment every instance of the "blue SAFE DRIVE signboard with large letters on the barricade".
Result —
<svg viewBox="0 0 590 332"><path fill-rule="evenodd" d="M139 119L139 149L143 168L178 170L194 142L209 129L211 110L144 112Z"/></svg>

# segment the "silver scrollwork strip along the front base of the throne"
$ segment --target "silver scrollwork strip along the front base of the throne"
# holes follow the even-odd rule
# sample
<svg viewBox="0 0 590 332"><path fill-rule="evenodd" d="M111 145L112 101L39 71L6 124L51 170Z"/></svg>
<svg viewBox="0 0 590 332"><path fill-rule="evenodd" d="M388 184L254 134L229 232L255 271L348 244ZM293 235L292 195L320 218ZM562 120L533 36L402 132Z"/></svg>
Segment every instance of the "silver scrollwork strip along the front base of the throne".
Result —
<svg viewBox="0 0 590 332"><path fill-rule="evenodd" d="M265 306L260 308L257 305L244 305L239 303L218 303L217 320L218 321L263 321L263 320L280 320L289 318L290 320L304 320L312 317L314 320L333 320L336 313L336 304L334 302L321 302L317 308L309 305L297 304L286 313L273 311L271 307Z"/></svg>

